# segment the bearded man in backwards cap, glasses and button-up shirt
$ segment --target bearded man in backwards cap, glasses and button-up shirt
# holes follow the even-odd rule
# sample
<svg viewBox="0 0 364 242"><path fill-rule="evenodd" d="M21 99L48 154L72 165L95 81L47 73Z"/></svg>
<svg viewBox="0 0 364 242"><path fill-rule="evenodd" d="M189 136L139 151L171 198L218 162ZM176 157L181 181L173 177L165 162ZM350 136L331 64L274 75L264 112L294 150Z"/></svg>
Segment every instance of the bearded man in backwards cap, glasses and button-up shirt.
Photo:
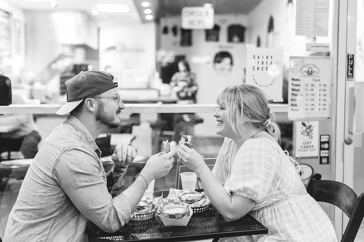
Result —
<svg viewBox="0 0 364 242"><path fill-rule="evenodd" d="M151 156L127 190L113 198L108 193L95 139L106 128L121 124L119 114L125 106L113 79L104 71L85 71L66 82L67 103L56 113L71 113L31 163L9 215L4 242L83 242L90 221L112 233L130 220L149 182L167 175L174 151ZM130 145L116 145L110 174L115 183L122 184L134 158Z"/></svg>

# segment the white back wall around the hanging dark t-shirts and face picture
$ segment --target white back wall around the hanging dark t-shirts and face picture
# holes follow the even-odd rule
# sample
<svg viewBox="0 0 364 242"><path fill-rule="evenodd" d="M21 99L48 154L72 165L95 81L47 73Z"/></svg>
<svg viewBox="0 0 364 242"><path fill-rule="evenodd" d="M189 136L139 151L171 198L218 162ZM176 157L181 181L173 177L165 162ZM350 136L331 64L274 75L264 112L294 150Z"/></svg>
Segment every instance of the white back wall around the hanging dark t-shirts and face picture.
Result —
<svg viewBox="0 0 364 242"><path fill-rule="evenodd" d="M243 43L227 42L227 26L230 24L248 24L248 17L244 15L215 15L215 24L220 26L219 41L206 42L205 30L192 30L192 46L180 46L181 40L181 17L165 17L161 19L160 27L168 26L169 33L161 36L161 49L173 50L176 55L185 55L190 64L191 71L196 74L199 85L197 92L197 103L215 103L215 96L220 89L230 85L241 83L244 78L244 67L246 61L246 45ZM177 36L173 36L171 28L178 26ZM162 33L162 31L161 31ZM248 33L245 32L245 40ZM233 67L227 75L219 75L214 71L213 63L197 64L191 62L191 56L209 56L213 60L219 51L230 52L233 56ZM203 123L195 128L195 135L213 137L215 134L216 119L212 113L198 114L203 118Z"/></svg>

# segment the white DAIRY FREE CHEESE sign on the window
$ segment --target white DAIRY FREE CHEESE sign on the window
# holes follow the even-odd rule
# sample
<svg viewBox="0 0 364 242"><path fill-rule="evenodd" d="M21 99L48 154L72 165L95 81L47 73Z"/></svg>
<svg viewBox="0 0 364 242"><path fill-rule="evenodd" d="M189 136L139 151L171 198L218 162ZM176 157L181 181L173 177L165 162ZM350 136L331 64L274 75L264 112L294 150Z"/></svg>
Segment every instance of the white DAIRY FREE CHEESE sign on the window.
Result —
<svg viewBox="0 0 364 242"><path fill-rule="evenodd" d="M282 102L283 48L246 47L245 82L262 89L268 99Z"/></svg>

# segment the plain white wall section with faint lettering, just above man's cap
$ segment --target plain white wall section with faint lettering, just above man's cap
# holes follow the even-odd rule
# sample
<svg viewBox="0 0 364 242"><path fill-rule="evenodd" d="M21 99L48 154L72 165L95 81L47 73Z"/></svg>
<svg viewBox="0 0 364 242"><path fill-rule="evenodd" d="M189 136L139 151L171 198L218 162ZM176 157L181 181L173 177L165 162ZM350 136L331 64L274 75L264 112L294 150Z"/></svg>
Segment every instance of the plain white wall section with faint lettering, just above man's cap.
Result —
<svg viewBox="0 0 364 242"><path fill-rule="evenodd" d="M100 70L107 66L119 87L146 88L155 71L155 24L100 28Z"/></svg>

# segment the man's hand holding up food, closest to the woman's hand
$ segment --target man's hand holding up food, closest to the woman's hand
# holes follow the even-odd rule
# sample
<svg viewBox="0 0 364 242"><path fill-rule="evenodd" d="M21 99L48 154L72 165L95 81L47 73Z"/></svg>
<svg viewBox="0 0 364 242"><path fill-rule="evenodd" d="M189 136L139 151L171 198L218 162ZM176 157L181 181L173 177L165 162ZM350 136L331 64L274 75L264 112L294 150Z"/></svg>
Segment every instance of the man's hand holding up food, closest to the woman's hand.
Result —
<svg viewBox="0 0 364 242"><path fill-rule="evenodd" d="M173 155L173 150L164 155L161 155L161 152L152 155L140 173L148 177L150 181L166 176L173 167Z"/></svg>

